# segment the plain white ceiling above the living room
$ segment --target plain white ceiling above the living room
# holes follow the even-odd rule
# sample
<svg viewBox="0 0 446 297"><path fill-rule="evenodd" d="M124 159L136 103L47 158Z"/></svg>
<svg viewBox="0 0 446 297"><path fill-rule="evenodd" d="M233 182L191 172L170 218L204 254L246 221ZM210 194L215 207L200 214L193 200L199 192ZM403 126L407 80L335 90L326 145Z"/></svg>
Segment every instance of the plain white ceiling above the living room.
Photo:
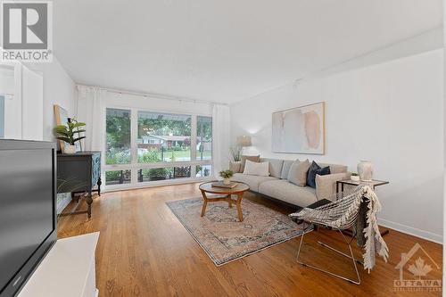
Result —
<svg viewBox="0 0 446 297"><path fill-rule="evenodd" d="M234 103L442 24L442 0L58 0L80 84Z"/></svg>

